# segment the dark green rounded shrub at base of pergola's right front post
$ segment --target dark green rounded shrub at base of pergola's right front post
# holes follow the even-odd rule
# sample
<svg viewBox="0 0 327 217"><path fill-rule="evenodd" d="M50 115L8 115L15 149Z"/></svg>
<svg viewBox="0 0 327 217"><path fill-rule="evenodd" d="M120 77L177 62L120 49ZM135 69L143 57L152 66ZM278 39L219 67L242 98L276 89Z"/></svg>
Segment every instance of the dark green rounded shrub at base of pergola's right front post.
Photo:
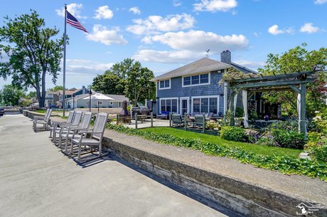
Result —
<svg viewBox="0 0 327 217"><path fill-rule="evenodd" d="M280 147L291 149L303 149L306 144L303 133L298 133L293 130L276 130L273 133L274 142L277 142Z"/></svg>

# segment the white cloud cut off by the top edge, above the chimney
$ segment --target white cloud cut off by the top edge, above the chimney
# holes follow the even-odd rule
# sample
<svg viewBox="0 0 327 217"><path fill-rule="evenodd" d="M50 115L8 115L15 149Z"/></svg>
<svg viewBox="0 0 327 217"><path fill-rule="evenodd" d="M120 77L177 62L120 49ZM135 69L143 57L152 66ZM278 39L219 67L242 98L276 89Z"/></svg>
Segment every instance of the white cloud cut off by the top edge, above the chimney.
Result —
<svg viewBox="0 0 327 217"><path fill-rule="evenodd" d="M193 4L195 11L229 11L237 6L236 0L201 0Z"/></svg>

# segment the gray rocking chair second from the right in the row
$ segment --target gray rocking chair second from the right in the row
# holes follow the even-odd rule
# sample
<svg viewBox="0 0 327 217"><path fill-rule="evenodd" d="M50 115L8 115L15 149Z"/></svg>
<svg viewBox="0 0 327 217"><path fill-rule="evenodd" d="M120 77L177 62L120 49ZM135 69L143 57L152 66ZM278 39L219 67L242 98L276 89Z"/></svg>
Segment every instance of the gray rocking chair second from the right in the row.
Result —
<svg viewBox="0 0 327 217"><path fill-rule="evenodd" d="M59 147L61 147L63 140L65 140L65 152L68 151L68 142L73 138L75 132L75 138L77 138L77 132L82 129L88 129L92 119L92 112L85 112L82 118L82 122L77 127L68 126L63 127L59 133ZM71 145L71 151L73 150L73 145Z"/></svg>

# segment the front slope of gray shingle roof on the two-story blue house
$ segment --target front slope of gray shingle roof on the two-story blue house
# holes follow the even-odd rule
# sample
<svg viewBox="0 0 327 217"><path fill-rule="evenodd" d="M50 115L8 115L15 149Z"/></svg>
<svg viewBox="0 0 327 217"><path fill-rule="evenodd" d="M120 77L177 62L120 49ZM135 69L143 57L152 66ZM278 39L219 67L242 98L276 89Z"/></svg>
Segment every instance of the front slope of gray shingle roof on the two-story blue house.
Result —
<svg viewBox="0 0 327 217"><path fill-rule="evenodd" d="M202 58L200 60L196 60L193 63L189 63L188 65L184 65L180 68L176 68L171 70L168 73L164 73L163 75L159 75L156 78L151 79L151 81L163 80L168 78L175 78L184 75L192 75L195 73L205 73L213 70L221 70L225 68L231 68L232 66L227 63L222 63L217 60L213 60L210 58Z"/></svg>

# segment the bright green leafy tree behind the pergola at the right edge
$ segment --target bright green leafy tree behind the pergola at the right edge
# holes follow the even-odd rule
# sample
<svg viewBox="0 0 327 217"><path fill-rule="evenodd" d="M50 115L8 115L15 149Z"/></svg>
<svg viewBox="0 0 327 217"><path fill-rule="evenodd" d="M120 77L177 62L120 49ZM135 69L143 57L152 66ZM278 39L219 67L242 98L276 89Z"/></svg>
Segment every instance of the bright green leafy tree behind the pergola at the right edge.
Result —
<svg viewBox="0 0 327 217"><path fill-rule="evenodd" d="M270 53L266 65L263 68L259 68L259 73L263 75L278 75L321 68L323 71L318 73L316 81L307 85L306 115L313 117L316 110L321 110L326 106L324 105L323 98L326 97L327 92L327 48L320 48L318 51L307 51L306 46L306 43L303 43L301 46L296 46L282 53L282 55ZM296 114L296 93L291 91L267 92L264 98L272 103L281 103Z"/></svg>

